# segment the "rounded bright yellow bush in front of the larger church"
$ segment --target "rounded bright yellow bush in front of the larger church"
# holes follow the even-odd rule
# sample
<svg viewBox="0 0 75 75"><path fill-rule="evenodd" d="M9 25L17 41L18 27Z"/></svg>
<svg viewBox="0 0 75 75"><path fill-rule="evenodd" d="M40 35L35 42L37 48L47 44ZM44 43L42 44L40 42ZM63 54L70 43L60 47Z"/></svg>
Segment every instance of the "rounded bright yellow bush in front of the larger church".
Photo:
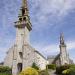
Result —
<svg viewBox="0 0 75 75"><path fill-rule="evenodd" d="M26 68L19 75L38 75L38 72L34 68Z"/></svg>

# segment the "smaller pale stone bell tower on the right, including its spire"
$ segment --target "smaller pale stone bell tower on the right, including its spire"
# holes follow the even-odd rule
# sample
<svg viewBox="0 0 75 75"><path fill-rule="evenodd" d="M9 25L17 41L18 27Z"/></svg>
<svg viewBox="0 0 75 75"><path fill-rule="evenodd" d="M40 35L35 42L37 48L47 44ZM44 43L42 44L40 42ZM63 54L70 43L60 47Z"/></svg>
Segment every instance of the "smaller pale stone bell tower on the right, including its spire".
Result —
<svg viewBox="0 0 75 75"><path fill-rule="evenodd" d="M69 64L69 55L66 50L63 33L60 35L60 63L61 65Z"/></svg>

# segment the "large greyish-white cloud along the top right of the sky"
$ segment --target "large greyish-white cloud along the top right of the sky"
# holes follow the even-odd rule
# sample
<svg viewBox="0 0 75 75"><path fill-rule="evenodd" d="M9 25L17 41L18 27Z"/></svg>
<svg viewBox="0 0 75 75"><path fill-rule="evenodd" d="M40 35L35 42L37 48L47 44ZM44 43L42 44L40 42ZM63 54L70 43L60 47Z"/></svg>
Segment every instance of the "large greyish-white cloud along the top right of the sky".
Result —
<svg viewBox="0 0 75 75"><path fill-rule="evenodd" d="M32 6L39 7L41 14L61 14L64 15L68 10L75 8L75 0L32 0L35 4Z"/></svg>

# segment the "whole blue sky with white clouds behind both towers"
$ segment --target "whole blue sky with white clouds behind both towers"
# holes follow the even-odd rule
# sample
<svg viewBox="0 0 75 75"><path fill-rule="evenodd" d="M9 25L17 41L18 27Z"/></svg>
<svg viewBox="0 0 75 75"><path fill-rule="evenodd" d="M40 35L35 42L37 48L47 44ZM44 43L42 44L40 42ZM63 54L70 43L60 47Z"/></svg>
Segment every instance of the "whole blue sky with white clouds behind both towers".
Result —
<svg viewBox="0 0 75 75"><path fill-rule="evenodd" d="M28 0L32 23L31 45L43 55L59 53L59 36L64 33L69 56L75 62L75 0ZM0 62L14 44L21 0L0 1Z"/></svg>

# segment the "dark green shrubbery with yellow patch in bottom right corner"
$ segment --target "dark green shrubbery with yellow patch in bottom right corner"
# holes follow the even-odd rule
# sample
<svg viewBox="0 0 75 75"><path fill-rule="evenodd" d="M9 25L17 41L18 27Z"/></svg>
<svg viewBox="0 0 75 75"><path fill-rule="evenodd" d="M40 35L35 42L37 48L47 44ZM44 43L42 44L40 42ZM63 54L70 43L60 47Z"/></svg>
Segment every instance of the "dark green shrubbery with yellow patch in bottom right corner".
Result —
<svg viewBox="0 0 75 75"><path fill-rule="evenodd" d="M57 67L56 73L61 75L75 75L75 65L64 65Z"/></svg>

